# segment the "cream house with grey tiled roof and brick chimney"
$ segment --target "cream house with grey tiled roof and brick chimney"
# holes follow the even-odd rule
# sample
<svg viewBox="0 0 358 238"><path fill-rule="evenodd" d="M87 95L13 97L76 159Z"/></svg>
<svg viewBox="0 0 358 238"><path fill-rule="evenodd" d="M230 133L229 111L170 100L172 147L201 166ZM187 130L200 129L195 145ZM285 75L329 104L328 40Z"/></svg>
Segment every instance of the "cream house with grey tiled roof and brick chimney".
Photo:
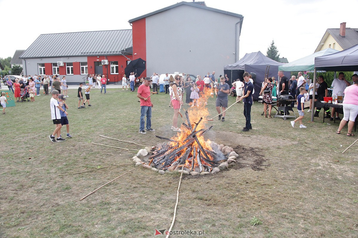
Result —
<svg viewBox="0 0 358 238"><path fill-rule="evenodd" d="M342 51L358 45L358 28L345 26L346 22L342 22L339 28L327 29L314 52L327 48Z"/></svg>

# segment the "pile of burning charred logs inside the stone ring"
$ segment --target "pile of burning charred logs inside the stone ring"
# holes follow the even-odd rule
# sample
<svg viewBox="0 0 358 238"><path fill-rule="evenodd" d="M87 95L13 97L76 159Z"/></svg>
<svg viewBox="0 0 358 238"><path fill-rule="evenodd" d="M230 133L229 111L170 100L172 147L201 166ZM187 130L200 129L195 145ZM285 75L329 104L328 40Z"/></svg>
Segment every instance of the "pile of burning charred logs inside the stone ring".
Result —
<svg viewBox="0 0 358 238"><path fill-rule="evenodd" d="M169 141L168 146L154 151L149 159L153 159L153 166L157 169L173 171L180 167L185 167L191 171L197 172L211 172L213 167L217 167L226 157L221 151L214 151L209 146L209 143L204 141L203 135L211 130L213 126L204 129L200 128L199 123L203 117L200 117L198 122L192 124L190 122L188 111L185 111L187 123L183 126L188 129L181 132L178 138L165 138L156 136L162 140ZM197 130L199 129L199 130Z"/></svg>

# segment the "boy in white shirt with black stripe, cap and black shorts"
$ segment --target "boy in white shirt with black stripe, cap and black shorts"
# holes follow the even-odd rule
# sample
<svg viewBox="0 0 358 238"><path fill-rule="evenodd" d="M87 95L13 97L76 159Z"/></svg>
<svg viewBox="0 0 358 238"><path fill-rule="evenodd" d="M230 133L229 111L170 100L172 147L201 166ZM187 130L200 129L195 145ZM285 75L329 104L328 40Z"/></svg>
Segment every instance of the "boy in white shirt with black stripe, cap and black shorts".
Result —
<svg viewBox="0 0 358 238"><path fill-rule="evenodd" d="M53 131L52 135L50 135L49 137L52 142L66 141L66 139L63 139L61 137L62 125L61 125L60 111L63 111L66 116L68 115L68 113L65 110L63 110L62 107L60 107L58 105L57 98L60 93L57 90L52 90L51 94L52 94L51 101L50 101L51 118L52 118L53 124L56 125L56 128ZM57 140L55 140L56 134L57 134Z"/></svg>

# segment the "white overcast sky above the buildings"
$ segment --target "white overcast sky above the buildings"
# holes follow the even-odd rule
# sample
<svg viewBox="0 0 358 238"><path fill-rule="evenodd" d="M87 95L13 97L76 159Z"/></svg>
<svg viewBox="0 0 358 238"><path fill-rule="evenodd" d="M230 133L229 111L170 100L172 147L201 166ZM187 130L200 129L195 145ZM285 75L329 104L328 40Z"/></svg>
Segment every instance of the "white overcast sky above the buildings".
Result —
<svg viewBox="0 0 358 238"><path fill-rule="evenodd" d="M0 57L27 49L40 34L131 29L129 19L177 2L0 0L1 32L6 32L1 37ZM327 28L339 28L341 22L358 28L357 0L206 0L205 4L244 16L240 59L256 51L266 55L274 40L280 57L291 62L312 54Z"/></svg>

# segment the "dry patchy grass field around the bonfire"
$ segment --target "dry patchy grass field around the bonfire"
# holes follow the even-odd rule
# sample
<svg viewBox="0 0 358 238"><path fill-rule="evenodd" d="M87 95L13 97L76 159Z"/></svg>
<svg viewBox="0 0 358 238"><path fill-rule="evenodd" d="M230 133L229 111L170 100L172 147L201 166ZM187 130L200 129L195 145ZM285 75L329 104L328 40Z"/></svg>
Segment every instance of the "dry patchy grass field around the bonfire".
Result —
<svg viewBox="0 0 358 238"><path fill-rule="evenodd" d="M168 229L180 174L139 168L82 201L134 165L58 176L133 163L135 151L92 142L142 148L99 135L150 146L163 142L154 135L174 136L167 94L151 97L156 132L145 135L138 133L136 93L92 90L93 106L81 110L76 96L77 90L69 90L73 138L61 143L48 138L54 130L50 96L0 114L0 237L154 237L155 229ZM208 101L212 116L214 100ZM342 154L357 137L345 136L347 127L336 135L338 123L322 123L323 115L314 123L307 116L308 128L300 129L290 119L264 118L262 108L254 103L250 132L241 131L242 103L228 110L225 122L207 122L214 127L205 138L233 147L240 157L227 171L182 179L173 231L203 231L201 237L358 237L358 144Z"/></svg>

